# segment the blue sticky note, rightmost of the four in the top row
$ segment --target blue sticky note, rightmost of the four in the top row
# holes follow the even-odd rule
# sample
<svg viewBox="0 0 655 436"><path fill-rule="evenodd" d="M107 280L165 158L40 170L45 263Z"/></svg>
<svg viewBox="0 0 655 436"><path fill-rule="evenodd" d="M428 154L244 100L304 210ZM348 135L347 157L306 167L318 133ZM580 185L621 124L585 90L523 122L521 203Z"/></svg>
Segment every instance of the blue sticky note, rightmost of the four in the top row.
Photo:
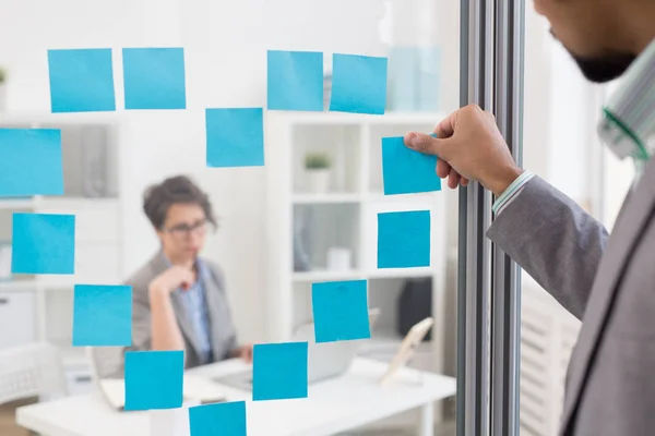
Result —
<svg viewBox="0 0 655 436"><path fill-rule="evenodd" d="M330 110L383 114L386 58L335 53L332 62Z"/></svg>

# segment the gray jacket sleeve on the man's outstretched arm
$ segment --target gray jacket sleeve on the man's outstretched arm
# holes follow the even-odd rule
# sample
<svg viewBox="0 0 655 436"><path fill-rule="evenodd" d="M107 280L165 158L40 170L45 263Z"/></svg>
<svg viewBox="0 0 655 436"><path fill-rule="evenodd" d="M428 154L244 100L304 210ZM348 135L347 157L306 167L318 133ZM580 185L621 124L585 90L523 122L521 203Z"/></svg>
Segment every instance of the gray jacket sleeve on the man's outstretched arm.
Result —
<svg viewBox="0 0 655 436"><path fill-rule="evenodd" d="M571 198L535 177L487 235L582 319L608 233Z"/></svg>

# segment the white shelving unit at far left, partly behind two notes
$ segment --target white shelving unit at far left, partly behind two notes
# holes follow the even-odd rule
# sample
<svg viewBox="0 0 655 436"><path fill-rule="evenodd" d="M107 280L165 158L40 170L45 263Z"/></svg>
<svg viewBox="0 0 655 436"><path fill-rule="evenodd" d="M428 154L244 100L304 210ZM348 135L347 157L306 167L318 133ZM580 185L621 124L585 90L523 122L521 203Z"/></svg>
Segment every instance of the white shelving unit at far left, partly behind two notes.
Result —
<svg viewBox="0 0 655 436"><path fill-rule="evenodd" d="M11 244L13 213L75 215L74 275L13 275L0 281L0 326L8 327L0 328L0 347L31 341L58 346L69 389L75 392L84 389L90 368L84 349L72 347L73 288L76 283L115 284L121 277L119 123L99 113L21 113L3 114L0 128L61 129L64 172L62 196L0 198L0 241ZM84 196L81 185L82 167L88 165L83 160L82 147L93 146L96 141L106 144L106 192L91 197ZM93 165L98 165L97 159Z"/></svg>

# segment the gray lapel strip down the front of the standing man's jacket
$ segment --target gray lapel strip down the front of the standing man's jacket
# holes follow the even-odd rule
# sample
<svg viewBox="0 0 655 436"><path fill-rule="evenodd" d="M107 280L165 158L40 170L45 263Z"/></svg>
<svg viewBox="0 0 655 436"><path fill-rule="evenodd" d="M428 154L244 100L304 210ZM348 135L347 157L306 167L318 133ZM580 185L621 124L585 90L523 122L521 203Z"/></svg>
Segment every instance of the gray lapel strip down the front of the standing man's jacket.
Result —
<svg viewBox="0 0 655 436"><path fill-rule="evenodd" d="M618 282L635 243L642 234L655 204L655 159L645 168L643 179L623 203L611 232L607 249L598 266L596 278L583 318L583 328L569 368L567 403L562 428L567 434L588 374L598 340L606 325Z"/></svg>

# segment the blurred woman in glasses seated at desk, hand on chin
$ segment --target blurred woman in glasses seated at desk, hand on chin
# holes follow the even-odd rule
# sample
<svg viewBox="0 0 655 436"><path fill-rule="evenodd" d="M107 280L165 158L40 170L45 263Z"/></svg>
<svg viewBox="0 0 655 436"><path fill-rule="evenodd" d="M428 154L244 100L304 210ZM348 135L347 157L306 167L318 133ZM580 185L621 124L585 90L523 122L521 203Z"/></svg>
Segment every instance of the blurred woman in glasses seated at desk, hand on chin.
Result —
<svg viewBox="0 0 655 436"><path fill-rule="evenodd" d="M184 366L230 358L252 361L238 346L218 265L200 256L207 227L216 228L207 195L178 175L148 187L143 210L159 251L128 280L132 286L133 350L183 350Z"/></svg>

